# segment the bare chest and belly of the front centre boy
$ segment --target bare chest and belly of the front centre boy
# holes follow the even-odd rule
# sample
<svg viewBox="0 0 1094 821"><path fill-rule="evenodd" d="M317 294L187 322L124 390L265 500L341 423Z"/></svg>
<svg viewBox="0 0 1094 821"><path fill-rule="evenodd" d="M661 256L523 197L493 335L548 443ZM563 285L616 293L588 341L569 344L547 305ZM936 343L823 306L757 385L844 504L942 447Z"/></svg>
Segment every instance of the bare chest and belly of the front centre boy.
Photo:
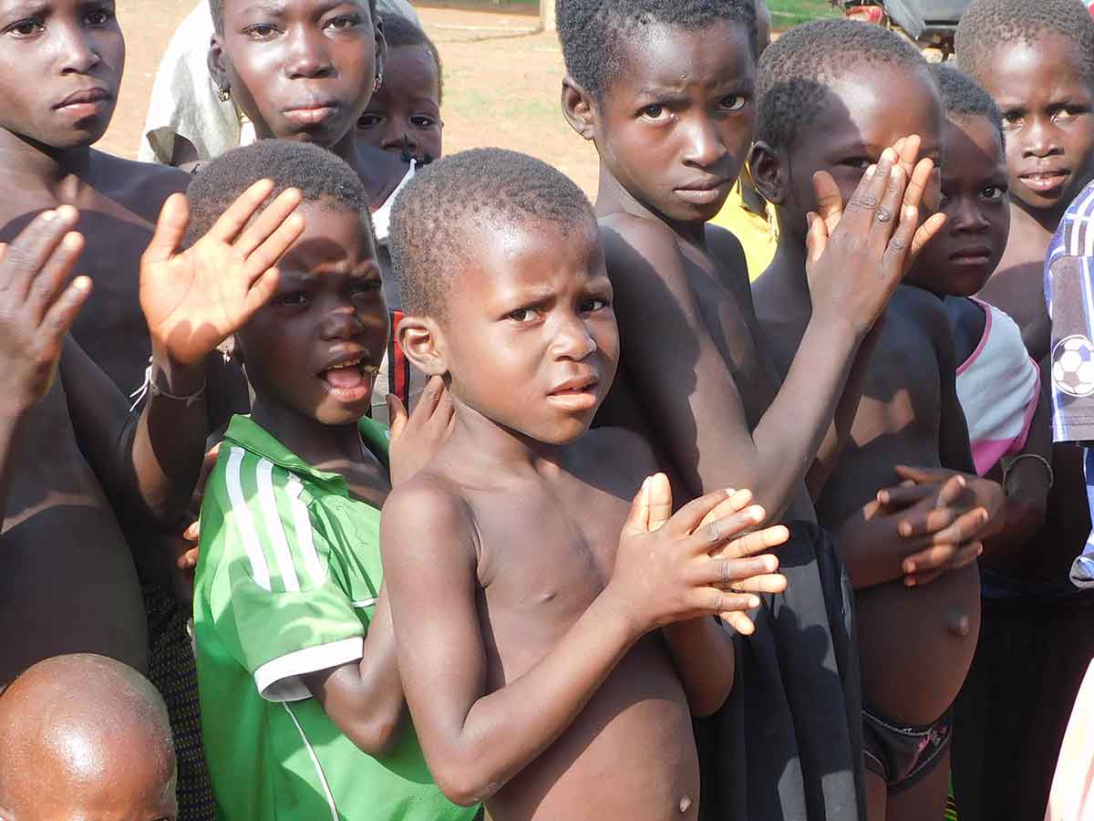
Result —
<svg viewBox="0 0 1094 821"><path fill-rule="evenodd" d="M627 456L614 447L618 431L591 432L582 444L596 440L600 448L580 464L538 481L482 482L474 471L446 477L455 479L479 535L487 692L542 659L610 577L644 473L620 476ZM668 821L695 819L698 807L690 710L656 633L624 657L558 740L487 801L499 821Z"/></svg>

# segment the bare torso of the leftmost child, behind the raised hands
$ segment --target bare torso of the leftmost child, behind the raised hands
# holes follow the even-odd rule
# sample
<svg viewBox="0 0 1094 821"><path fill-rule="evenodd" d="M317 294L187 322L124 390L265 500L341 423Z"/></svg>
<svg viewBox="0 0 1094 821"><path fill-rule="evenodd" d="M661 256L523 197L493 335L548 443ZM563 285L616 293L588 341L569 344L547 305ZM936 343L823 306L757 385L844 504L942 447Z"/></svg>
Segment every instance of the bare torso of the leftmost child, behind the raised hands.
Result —
<svg viewBox="0 0 1094 821"><path fill-rule="evenodd" d="M80 209L85 250L79 270L94 291L73 335L127 393L143 381L148 331L138 302L138 266L163 200L179 172L94 153L89 181L20 186L0 203L0 240L39 211ZM133 562L98 479L80 452L58 379L28 415L15 454L0 574L0 685L58 652L100 652L146 664L144 615Z"/></svg>

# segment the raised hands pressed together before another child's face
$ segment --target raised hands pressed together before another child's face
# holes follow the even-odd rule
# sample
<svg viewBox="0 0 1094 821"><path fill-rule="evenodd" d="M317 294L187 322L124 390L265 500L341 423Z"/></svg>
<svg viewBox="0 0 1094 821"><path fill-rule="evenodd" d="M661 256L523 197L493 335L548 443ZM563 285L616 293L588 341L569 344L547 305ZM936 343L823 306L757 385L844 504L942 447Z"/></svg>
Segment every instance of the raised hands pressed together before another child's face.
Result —
<svg viewBox="0 0 1094 821"><path fill-rule="evenodd" d="M813 314L847 323L862 338L885 311L905 271L942 228L935 213L919 224L934 163L918 160L919 138L885 149L845 205L831 175L813 177L818 213L808 215L806 274Z"/></svg>

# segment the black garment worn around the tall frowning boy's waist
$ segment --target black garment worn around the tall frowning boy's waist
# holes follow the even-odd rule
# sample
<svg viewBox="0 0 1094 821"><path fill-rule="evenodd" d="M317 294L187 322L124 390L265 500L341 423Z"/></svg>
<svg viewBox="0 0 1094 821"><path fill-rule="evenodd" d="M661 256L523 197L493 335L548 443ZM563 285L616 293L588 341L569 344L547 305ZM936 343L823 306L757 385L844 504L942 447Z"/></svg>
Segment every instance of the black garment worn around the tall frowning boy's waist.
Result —
<svg viewBox="0 0 1094 821"><path fill-rule="evenodd" d="M696 720L702 821L864 821L850 580L827 531L790 525L783 593L737 636L733 692Z"/></svg>

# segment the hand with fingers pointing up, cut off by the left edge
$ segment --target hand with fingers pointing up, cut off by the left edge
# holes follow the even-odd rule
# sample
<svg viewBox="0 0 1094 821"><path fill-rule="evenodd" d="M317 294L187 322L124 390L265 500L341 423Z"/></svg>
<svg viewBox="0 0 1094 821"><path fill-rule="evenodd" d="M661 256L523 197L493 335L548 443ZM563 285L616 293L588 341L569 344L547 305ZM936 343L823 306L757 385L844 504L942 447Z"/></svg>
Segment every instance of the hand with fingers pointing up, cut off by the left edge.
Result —
<svg viewBox="0 0 1094 821"><path fill-rule="evenodd" d="M83 236L77 211L44 211L10 245L0 244L0 401L30 409L49 391L65 335L91 296L91 280L69 281Z"/></svg>

